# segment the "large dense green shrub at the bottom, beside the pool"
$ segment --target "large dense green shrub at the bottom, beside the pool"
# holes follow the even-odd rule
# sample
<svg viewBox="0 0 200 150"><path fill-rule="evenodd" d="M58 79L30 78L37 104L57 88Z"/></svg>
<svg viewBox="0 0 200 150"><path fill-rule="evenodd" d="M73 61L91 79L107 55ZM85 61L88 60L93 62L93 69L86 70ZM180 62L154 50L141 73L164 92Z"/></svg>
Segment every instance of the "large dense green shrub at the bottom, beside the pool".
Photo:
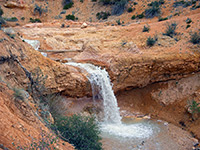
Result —
<svg viewBox="0 0 200 150"><path fill-rule="evenodd" d="M55 127L78 150L102 150L100 130L94 117L62 117L56 120Z"/></svg>

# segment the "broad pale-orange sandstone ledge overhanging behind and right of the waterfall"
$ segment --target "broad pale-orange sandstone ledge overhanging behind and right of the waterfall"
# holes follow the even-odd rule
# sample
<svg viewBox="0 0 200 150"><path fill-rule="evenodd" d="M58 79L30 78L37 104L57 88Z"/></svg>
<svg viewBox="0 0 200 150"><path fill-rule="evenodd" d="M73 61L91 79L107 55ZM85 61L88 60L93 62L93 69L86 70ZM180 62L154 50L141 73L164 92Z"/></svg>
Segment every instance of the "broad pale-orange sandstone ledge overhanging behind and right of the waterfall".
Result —
<svg viewBox="0 0 200 150"><path fill-rule="evenodd" d="M190 16L199 18L198 15ZM184 25L184 17L178 20ZM70 28L53 28L43 24L41 28L17 28L25 38L40 40L41 49L60 51L49 52L49 58L66 58L76 62L92 63L109 72L115 92L148 84L184 78L199 71L200 54L188 38L174 38L163 35L166 22L151 23L151 31L142 33L142 24L125 27L97 25L90 23L81 30L73 22ZM198 26L198 23L194 23ZM153 47L146 46L146 38L155 35L158 42ZM179 33L189 36L189 32L179 28ZM178 37L179 38L179 37ZM67 52L75 50L76 52ZM80 50L80 51L79 51Z"/></svg>

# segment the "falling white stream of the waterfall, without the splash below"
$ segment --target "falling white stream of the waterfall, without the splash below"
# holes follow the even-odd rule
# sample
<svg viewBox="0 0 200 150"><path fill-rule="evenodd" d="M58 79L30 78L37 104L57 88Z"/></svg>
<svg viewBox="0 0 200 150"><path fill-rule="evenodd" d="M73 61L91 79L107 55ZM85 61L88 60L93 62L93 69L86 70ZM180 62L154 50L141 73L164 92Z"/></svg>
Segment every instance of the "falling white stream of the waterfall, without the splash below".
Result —
<svg viewBox="0 0 200 150"><path fill-rule="evenodd" d="M121 116L117 99L112 90L109 74L105 69L92 64L66 63L79 67L88 72L87 78L90 81L93 99L102 99L104 106L104 123L121 124Z"/></svg>

